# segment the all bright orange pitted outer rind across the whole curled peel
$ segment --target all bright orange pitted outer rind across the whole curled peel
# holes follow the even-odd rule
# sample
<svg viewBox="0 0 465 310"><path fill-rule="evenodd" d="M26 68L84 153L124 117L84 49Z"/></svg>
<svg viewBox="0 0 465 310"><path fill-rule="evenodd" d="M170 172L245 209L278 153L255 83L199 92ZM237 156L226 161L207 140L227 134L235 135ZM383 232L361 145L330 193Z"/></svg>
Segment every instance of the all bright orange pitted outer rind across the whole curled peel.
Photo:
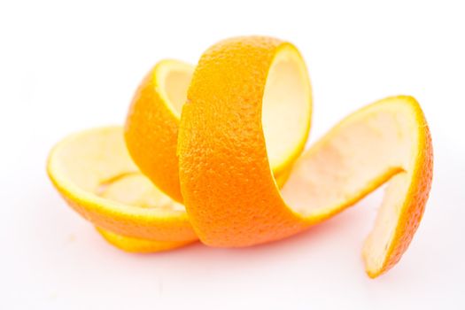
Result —
<svg viewBox="0 0 465 310"><path fill-rule="evenodd" d="M289 43L264 37L235 38L216 44L199 62L190 86L188 105L182 112L178 153L181 189L190 221L205 244L246 246L291 236L353 205L401 171L399 167L386 167L384 174L366 189L321 216L304 218L285 205L269 168L261 128L261 99L267 70L275 53L284 45L289 46ZM159 180L155 177L152 181L157 185L165 182L166 185L161 186L167 186L164 189L167 194L181 201L175 157L179 120L161 101L151 74L136 92L128 115L126 139L128 147L131 145L129 150L149 154L143 155L142 159L136 156L137 164L145 167L147 175L151 176L154 171L151 163L157 162L155 160L166 166L163 174L159 174ZM407 250L430 191L433 160L430 131L422 111L415 103L413 105L421 127L418 140L421 153L415 160L403 212L383 267L376 271L367 270L371 277L390 269ZM160 123L159 120L167 121ZM170 138L160 140L160 136ZM167 176L173 176L173 179L166 181L170 179ZM164 251L197 239L185 225L187 216L176 222L173 219L151 219L143 214L144 211L128 214L108 210L75 197L60 187L52 175L50 178L68 204L89 221L116 234L144 238L143 243L147 240L154 242L152 247L143 244L139 248L128 248L119 243L118 238L99 230L110 243L125 251ZM176 186L178 190L173 190Z"/></svg>

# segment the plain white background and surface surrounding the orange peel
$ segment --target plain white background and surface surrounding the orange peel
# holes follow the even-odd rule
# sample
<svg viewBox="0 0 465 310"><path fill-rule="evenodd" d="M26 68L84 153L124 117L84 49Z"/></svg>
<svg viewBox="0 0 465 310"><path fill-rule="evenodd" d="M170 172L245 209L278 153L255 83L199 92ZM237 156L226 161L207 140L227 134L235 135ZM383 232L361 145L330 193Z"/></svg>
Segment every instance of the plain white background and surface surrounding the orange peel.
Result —
<svg viewBox="0 0 465 310"><path fill-rule="evenodd" d="M465 308L465 9L460 1L0 2L0 308ZM161 58L195 63L231 35L295 43L321 136L378 98L414 95L435 175L399 265L368 279L361 244L382 192L283 242L120 252L58 197L50 147L121 124Z"/></svg>

